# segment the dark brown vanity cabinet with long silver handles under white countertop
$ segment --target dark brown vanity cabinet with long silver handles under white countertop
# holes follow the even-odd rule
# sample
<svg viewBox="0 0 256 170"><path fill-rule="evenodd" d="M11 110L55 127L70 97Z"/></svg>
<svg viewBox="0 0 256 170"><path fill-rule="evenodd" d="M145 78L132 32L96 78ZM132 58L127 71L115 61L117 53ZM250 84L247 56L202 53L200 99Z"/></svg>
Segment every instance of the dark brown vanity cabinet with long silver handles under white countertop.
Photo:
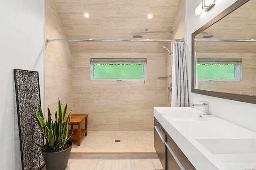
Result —
<svg viewBox="0 0 256 170"><path fill-rule="evenodd" d="M155 149L164 170L196 170L196 168L194 168L194 166L191 164L185 154L180 150L180 148L177 146L174 140L172 140L171 136L160 125L156 118L154 119L154 126ZM156 130L156 127L158 128L158 130ZM158 132L161 132L161 130L165 134L164 141ZM159 149L160 147L161 149Z"/></svg>

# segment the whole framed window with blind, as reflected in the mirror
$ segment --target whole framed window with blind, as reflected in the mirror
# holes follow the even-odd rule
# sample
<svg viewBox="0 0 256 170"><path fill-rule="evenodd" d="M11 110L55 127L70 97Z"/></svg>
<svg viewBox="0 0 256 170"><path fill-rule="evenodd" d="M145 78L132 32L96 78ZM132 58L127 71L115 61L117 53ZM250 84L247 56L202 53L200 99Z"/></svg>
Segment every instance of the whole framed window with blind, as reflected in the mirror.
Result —
<svg viewBox="0 0 256 170"><path fill-rule="evenodd" d="M196 59L199 81L241 81L242 59Z"/></svg>

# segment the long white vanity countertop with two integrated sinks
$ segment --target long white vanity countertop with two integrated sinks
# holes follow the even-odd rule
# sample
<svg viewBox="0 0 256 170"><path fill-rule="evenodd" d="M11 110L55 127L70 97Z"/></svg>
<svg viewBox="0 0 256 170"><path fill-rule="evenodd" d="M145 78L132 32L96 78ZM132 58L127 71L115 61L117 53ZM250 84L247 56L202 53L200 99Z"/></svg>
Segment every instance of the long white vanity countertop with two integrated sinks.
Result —
<svg viewBox="0 0 256 170"><path fill-rule="evenodd" d="M256 132L192 107L154 107L154 117L197 170L256 170Z"/></svg>

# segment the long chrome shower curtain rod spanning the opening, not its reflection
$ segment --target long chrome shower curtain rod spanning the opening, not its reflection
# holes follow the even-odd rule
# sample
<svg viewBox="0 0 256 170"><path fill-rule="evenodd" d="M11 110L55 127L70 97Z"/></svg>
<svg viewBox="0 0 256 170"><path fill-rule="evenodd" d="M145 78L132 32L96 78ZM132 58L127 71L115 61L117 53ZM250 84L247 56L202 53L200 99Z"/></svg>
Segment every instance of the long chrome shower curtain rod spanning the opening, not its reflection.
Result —
<svg viewBox="0 0 256 170"><path fill-rule="evenodd" d="M75 39L46 39L46 42L184 42L184 39L176 40L75 40Z"/></svg>

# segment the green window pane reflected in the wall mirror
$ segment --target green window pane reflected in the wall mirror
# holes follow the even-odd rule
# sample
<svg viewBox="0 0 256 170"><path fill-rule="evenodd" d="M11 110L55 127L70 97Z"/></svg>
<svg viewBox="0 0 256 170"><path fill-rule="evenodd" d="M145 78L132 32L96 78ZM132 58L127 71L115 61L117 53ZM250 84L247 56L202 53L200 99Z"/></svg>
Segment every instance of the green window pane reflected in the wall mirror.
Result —
<svg viewBox="0 0 256 170"><path fill-rule="evenodd" d="M198 79L235 79L235 65L197 65Z"/></svg>

